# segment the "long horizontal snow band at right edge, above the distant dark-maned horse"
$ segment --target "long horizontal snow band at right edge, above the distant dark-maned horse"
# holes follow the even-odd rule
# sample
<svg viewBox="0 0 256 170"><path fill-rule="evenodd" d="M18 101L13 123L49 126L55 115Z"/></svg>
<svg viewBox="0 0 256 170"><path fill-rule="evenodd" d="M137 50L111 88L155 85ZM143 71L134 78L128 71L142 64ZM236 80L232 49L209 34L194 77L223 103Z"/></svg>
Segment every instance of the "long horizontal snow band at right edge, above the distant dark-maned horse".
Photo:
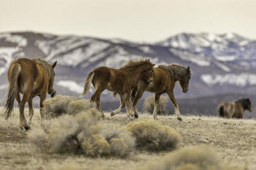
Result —
<svg viewBox="0 0 256 170"><path fill-rule="evenodd" d="M246 85L256 85L256 74L241 73L241 74L225 74L225 75L210 75L203 74L201 79L209 86L219 85L236 85L244 87Z"/></svg>

